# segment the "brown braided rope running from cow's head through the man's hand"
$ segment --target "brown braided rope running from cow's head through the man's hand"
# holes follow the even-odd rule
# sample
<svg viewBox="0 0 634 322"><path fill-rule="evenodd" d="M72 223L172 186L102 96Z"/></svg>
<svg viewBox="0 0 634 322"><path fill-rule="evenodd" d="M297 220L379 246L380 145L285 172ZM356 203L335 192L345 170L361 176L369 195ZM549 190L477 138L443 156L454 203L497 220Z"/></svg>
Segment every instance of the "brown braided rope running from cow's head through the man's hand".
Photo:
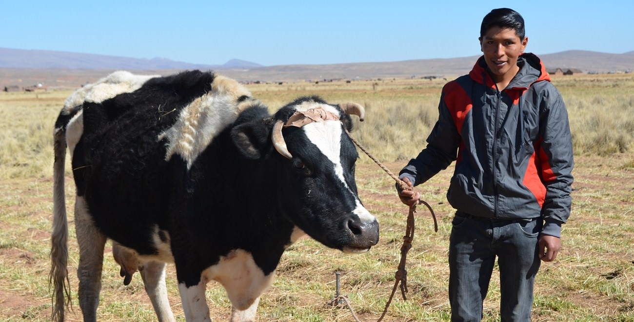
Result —
<svg viewBox="0 0 634 322"><path fill-rule="evenodd" d="M368 155L368 157L370 157L381 169L383 169L383 171L387 172L387 174L390 177L392 177L394 181L396 181L396 183L399 185L399 188L401 190L408 190L408 191L413 190L412 187L408 186L408 184L404 183L403 180L399 179L399 177L394 175L394 173L392 173L392 171L387 169L387 167L385 167L385 165L383 165L377 158L375 158L372 155L372 153L366 150L366 148L364 148L361 145L361 143L359 143L359 141L354 139L353 136L350 134L350 132L346 130L346 133L348 134L349 138L353 141L353 143L356 146L358 146L359 149L361 149L361 151L363 151L366 155ZM431 212L432 218L434 219L434 231L438 232L438 222L436 221L436 214L434 214L434 210L429 205L429 203L419 199L418 204L420 205L421 203L427 206L427 209L429 209L429 211ZM405 293L408 292L407 270L405 269L405 263L407 262L407 252L410 250L411 242L414 240L414 213L415 212L416 212L416 204L410 206L410 212L407 216L407 226L405 228L405 236L403 236L403 245L401 245L401 261L399 261L398 269L396 273L394 274L394 279L395 279L394 287L392 287L392 293L389 299L387 300L387 303L385 303L385 309L383 310L383 314L381 314L377 322L382 321L382 319L385 317L385 314L387 314L387 310L389 309L390 304L392 303L392 299L394 298L394 293L396 293L396 288L398 288L399 285L401 288L401 296L403 297L403 300L407 300L407 297L405 295ZM354 311L352 307L350 306L350 303L347 301L347 299L344 298L344 300L346 300L346 303L348 304L350 311L353 312L353 316L356 319L356 321L359 321L359 319L356 318L356 316L354 315Z"/></svg>

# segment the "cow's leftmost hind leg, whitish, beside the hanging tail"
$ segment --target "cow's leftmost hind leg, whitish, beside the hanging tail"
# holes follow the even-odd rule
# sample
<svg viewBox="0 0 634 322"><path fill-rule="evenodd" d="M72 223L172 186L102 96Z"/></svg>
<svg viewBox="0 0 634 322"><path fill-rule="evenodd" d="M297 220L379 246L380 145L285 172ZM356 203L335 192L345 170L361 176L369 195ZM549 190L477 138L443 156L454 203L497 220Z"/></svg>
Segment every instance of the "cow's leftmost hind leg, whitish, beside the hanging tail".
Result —
<svg viewBox="0 0 634 322"><path fill-rule="evenodd" d="M84 321L96 321L106 236L94 226L86 199L82 196L75 199L75 232L79 244L79 307Z"/></svg>

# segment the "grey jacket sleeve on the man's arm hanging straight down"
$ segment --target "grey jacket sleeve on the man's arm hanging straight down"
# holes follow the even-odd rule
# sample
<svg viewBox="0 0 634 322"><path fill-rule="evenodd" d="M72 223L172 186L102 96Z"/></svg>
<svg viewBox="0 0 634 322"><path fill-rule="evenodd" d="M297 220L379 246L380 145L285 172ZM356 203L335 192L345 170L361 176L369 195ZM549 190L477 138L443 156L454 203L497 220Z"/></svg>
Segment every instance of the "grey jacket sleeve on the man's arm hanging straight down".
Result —
<svg viewBox="0 0 634 322"><path fill-rule="evenodd" d="M570 216L573 184L573 142L568 123L568 113L561 94L552 84L544 93L540 110L541 180L546 187L542 207L544 235L560 237L561 225Z"/></svg>

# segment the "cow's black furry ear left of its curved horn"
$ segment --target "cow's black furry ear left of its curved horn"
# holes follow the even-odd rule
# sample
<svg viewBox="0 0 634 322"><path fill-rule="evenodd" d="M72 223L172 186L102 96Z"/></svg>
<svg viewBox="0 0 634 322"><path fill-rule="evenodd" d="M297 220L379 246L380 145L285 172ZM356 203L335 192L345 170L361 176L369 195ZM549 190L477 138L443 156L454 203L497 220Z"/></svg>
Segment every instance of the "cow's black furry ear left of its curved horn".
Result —
<svg viewBox="0 0 634 322"><path fill-rule="evenodd" d="M250 159L264 157L270 148L271 128L268 122L252 121L231 129L231 139L238 151Z"/></svg>

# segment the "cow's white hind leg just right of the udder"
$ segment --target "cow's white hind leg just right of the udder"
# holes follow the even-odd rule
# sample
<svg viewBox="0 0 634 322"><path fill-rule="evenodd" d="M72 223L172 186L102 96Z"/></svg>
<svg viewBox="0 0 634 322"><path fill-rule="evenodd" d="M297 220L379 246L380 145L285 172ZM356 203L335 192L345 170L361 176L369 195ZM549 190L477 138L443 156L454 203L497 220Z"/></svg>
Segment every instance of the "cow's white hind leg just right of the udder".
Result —
<svg viewBox="0 0 634 322"><path fill-rule="evenodd" d="M172 309L169 307L169 300L167 300L165 266L167 266L167 264L164 262L145 262L140 269L141 278L143 278L145 292L148 293L152 301L152 306L157 313L159 321L176 321Z"/></svg>

